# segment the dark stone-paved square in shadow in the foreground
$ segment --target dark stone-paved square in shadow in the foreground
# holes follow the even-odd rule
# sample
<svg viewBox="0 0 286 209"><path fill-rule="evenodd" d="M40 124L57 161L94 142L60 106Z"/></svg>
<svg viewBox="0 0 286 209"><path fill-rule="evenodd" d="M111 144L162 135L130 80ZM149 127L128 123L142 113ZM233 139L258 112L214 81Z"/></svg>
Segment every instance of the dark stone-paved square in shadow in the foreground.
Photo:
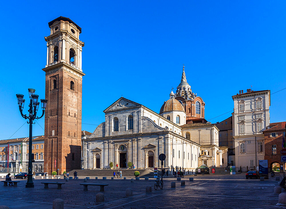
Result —
<svg viewBox="0 0 286 209"><path fill-rule="evenodd" d="M105 202L97 204L95 196L100 192L99 186L88 186L83 190L83 179L55 180L36 179L35 188L25 188L26 180L20 180L18 187L0 185L0 205L10 208L52 208L56 198L64 200L67 208L281 208L276 206L278 195L273 194L274 186L278 184L275 178L269 180L245 179L245 173L235 175L198 175L188 176L183 180L186 186L180 186L175 178L164 179L164 188L154 190L154 179L134 180L114 179L95 180L90 183L106 183ZM65 182L62 189L50 184L44 189L41 182ZM171 189L171 182L176 182L176 188ZM2 183L2 182L1 182ZM147 185L152 186L152 193L146 193ZM126 188L133 189L133 196L126 197ZM282 189L282 192L286 192Z"/></svg>

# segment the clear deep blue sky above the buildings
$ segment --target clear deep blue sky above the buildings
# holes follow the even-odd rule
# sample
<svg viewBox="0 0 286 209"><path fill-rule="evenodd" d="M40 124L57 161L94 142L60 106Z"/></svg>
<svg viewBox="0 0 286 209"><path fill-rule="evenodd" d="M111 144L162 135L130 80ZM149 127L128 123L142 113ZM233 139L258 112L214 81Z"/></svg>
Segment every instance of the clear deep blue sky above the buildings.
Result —
<svg viewBox="0 0 286 209"><path fill-rule="evenodd" d="M61 8L61 6L63 8ZM284 89L285 1L29 1L1 7L0 139L25 120L16 93L45 95L48 22L69 17L82 27L82 130L93 132L103 110L123 97L159 112L182 65L205 118L233 110L239 90ZM49 9L50 8L50 9ZM285 121L286 90L271 95L270 121ZM27 111L27 106L25 108ZM224 120L227 113L210 122ZM33 135L44 134L44 120ZM11 138L29 134L24 124Z"/></svg>

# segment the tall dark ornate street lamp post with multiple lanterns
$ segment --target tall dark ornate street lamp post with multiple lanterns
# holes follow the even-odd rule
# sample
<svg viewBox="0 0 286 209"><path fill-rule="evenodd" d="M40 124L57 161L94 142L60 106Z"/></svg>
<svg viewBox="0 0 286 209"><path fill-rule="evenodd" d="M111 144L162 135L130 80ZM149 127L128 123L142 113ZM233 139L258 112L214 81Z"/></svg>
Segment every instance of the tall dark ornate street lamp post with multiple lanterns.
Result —
<svg viewBox="0 0 286 209"><path fill-rule="evenodd" d="M45 114L45 108L47 105L47 100L46 99L41 99L41 106L42 106L42 115L41 117L37 116L37 111L39 108L39 102L38 98L39 96L35 94L35 89L28 89L29 91L29 98L30 98L30 104L29 104L29 115L27 116L26 114L23 114L23 108L25 104L25 99L24 95L22 94L16 94L18 105L19 105L19 110L21 113L21 116L25 119L29 119L27 121L30 127L29 129L29 164L28 164L28 179L26 183L26 188L31 188L34 187L34 182L33 182L33 174L32 174L32 160L33 160L33 155L32 155L32 125L33 125L33 120L39 119L44 116ZM34 123L35 124L35 123Z"/></svg>

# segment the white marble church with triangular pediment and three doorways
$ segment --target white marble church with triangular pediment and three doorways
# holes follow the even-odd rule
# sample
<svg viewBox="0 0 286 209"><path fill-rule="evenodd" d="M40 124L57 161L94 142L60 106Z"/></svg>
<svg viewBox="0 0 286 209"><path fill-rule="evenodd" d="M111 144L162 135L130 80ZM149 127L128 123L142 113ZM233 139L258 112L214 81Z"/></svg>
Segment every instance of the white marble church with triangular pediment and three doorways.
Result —
<svg viewBox="0 0 286 209"><path fill-rule="evenodd" d="M161 153L163 168L170 171L191 173L198 167L200 145L182 136L180 124L123 97L104 113L105 122L83 139L85 169L109 168L110 162L119 168L128 162L139 169L161 167Z"/></svg>

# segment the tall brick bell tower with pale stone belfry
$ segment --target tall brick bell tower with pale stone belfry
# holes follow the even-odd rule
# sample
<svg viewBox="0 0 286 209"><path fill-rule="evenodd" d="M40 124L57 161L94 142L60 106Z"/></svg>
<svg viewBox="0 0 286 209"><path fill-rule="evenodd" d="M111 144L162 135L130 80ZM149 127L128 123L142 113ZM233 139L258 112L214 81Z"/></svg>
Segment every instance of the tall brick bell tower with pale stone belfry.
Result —
<svg viewBox="0 0 286 209"><path fill-rule="evenodd" d="M49 22L46 73L44 171L80 169L82 129L82 29L71 19ZM59 170L58 170L59 169Z"/></svg>

